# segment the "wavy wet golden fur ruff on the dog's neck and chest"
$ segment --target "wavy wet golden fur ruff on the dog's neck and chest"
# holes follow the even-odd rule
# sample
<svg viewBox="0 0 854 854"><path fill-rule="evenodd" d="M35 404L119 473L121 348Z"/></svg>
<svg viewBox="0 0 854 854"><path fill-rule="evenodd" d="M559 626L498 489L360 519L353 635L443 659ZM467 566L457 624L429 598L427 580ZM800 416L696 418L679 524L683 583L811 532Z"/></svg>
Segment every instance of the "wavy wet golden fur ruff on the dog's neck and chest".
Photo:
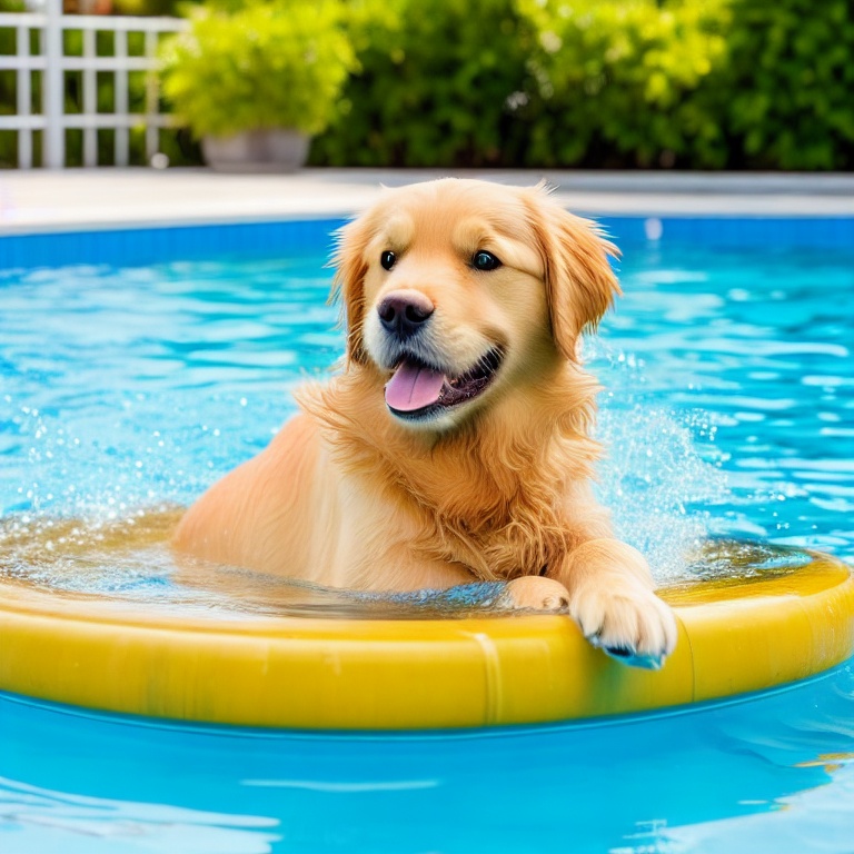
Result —
<svg viewBox="0 0 854 854"><path fill-rule="evenodd" d="M341 470L390 503L411 505L418 522L409 545L419 556L464 564L483 580L509 579L538 575L586 537L584 522L574 535L562 507L568 486L590 476L597 451L587 437L596 391L589 377L570 374L539 401L536 419L518 419L519 429L481 418L429 446L364 406L381 399L383 385L356 371L305 389L300 403Z"/></svg>

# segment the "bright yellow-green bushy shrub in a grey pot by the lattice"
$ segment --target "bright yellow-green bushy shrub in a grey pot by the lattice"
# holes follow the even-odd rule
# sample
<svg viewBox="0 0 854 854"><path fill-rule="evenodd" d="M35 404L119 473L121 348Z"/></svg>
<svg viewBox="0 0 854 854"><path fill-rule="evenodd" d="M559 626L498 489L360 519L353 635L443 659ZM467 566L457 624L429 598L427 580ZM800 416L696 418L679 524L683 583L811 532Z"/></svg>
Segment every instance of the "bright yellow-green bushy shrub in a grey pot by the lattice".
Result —
<svg viewBox="0 0 854 854"><path fill-rule="evenodd" d="M227 171L292 171L324 130L356 57L339 0L197 7L161 50L166 99Z"/></svg>

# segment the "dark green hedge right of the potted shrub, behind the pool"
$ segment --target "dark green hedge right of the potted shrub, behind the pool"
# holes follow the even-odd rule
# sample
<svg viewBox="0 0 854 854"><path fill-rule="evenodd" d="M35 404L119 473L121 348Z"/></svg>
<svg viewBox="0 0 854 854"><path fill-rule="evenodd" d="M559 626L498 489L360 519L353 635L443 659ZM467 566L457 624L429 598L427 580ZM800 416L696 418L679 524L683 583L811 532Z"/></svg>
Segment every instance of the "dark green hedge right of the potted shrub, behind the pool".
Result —
<svg viewBox="0 0 854 854"><path fill-rule="evenodd" d="M360 0L312 162L854 168L850 0Z"/></svg>

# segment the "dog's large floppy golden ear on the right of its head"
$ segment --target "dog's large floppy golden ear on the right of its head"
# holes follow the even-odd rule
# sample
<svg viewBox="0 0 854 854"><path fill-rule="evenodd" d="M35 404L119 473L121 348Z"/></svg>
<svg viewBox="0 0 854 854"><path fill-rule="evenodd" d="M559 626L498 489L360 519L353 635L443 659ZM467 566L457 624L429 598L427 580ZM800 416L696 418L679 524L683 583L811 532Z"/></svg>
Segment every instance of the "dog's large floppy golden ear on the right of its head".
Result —
<svg viewBox="0 0 854 854"><path fill-rule="evenodd" d="M594 222L550 199L544 185L524 198L543 257L552 335L560 354L576 360L578 336L595 329L620 294L608 262L619 252Z"/></svg>

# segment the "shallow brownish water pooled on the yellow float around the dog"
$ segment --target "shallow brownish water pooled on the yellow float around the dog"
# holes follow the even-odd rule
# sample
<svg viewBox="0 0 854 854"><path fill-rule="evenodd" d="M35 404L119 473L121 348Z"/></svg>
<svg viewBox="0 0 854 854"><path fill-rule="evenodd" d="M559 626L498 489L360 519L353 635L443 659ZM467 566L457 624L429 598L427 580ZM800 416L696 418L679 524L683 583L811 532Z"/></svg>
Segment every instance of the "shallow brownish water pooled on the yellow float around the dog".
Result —
<svg viewBox="0 0 854 854"><path fill-rule="evenodd" d="M0 519L0 582L43 592L97 596L211 619L277 616L364 619L436 619L503 612L500 583L449 590L359 593L195 558L179 558L169 537L179 508L138 513L128 519L87 524L42 516L27 523ZM812 560L794 547L712 539L685 555L667 588L778 577Z"/></svg>

